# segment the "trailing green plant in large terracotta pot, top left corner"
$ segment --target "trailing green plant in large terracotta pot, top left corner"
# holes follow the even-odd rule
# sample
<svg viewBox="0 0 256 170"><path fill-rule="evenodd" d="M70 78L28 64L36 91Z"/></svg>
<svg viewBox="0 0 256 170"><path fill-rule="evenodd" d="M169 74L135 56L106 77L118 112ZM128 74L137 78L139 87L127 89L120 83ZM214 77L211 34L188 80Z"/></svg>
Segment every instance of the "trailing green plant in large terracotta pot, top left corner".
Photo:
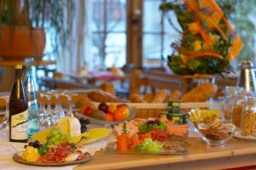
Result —
<svg viewBox="0 0 256 170"><path fill-rule="evenodd" d="M3 59L42 58L45 29L50 38L65 45L71 23L71 0L2 0L0 2L0 56ZM64 26L67 23L67 26Z"/></svg>

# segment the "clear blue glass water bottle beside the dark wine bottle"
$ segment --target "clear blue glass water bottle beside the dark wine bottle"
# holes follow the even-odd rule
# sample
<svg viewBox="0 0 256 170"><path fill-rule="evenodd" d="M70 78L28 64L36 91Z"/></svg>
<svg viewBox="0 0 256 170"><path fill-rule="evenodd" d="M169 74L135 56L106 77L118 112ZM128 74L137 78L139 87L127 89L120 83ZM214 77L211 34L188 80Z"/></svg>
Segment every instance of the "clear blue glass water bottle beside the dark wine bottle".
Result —
<svg viewBox="0 0 256 170"><path fill-rule="evenodd" d="M26 58L26 97L28 101L28 137L33 133L37 133L40 125L39 121L39 107L35 83L32 77L32 66L34 59Z"/></svg>

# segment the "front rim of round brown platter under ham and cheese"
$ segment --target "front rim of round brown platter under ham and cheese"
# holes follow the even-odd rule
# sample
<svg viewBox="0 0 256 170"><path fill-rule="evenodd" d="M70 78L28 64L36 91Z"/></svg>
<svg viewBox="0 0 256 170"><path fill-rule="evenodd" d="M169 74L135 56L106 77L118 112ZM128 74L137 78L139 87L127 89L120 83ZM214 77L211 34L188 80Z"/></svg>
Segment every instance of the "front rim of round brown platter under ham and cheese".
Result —
<svg viewBox="0 0 256 170"><path fill-rule="evenodd" d="M85 153L84 155L86 155L86 157L83 160L64 161L64 162L60 162L60 163L45 163L45 162L38 162L38 161L34 161L34 162L25 161L20 156L18 156L17 154L15 154L13 156L13 159L14 159L14 161L17 161L19 163L26 164L26 165L33 165L33 166L40 166L40 167L61 167L61 166L79 164L79 163L83 163L85 161L90 161L91 160L92 156L90 155L90 153Z"/></svg>

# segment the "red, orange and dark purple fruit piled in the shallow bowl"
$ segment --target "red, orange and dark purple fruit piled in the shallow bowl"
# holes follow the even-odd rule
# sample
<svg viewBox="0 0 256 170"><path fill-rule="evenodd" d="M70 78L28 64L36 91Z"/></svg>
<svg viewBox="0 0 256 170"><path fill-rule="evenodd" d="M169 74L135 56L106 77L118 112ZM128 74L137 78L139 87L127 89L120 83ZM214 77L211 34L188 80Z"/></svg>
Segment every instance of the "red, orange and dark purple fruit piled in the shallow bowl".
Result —
<svg viewBox="0 0 256 170"><path fill-rule="evenodd" d="M94 105L87 106L83 115L106 122L116 122L125 121L131 115L131 111L129 106L125 104L100 103L97 107Z"/></svg>

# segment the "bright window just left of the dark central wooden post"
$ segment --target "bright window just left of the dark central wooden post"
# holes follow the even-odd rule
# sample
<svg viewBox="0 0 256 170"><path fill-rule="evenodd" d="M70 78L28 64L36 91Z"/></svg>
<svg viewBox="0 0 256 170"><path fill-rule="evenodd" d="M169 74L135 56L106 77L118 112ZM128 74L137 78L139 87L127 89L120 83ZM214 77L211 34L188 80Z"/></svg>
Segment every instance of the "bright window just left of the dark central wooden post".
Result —
<svg viewBox="0 0 256 170"><path fill-rule="evenodd" d="M90 0L93 7L92 54L95 65L126 62L126 0Z"/></svg>

